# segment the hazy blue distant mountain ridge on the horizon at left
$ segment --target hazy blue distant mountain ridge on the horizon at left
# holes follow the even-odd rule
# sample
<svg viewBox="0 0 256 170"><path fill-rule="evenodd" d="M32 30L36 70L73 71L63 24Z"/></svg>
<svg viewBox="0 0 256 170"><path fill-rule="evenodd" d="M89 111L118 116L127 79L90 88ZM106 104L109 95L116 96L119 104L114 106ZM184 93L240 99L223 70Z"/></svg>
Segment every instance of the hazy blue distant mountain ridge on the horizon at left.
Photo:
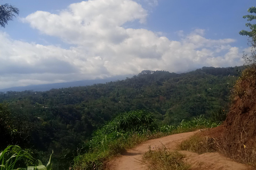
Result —
<svg viewBox="0 0 256 170"><path fill-rule="evenodd" d="M0 92L6 91L47 91L51 89L60 89L60 88L68 88L68 87L78 87L78 86L91 86L93 84L106 83L110 81L124 80L125 78L131 78L133 75L118 75L111 78L106 79L96 79L96 80L82 80L82 81L73 81L73 82L65 82L65 83L53 83L53 84L39 84L39 85L31 85L31 86L21 86L21 87L11 87L6 89L0 89Z"/></svg>

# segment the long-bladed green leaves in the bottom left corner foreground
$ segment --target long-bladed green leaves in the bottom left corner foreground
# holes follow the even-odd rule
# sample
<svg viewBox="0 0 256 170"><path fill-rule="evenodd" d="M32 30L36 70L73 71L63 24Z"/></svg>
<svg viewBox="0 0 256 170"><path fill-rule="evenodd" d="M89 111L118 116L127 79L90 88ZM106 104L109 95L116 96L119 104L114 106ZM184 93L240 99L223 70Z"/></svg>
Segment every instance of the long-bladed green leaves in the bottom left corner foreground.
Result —
<svg viewBox="0 0 256 170"><path fill-rule="evenodd" d="M19 146L9 146L0 153L0 169L12 170L15 168L21 170L51 170L52 154L46 166L42 164L41 160L36 160L38 164L35 166L27 166L27 168L18 168L17 166L22 166L22 163L26 162L27 160L30 160L30 162L34 162L35 159L27 151L22 150Z"/></svg>

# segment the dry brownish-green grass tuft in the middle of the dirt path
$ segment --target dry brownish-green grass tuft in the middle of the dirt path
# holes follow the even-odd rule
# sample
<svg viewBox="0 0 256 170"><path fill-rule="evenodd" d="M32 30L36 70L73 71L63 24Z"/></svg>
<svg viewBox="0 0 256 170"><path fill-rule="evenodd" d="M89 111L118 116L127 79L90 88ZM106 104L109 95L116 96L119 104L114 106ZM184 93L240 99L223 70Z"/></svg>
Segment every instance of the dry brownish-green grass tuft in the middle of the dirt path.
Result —
<svg viewBox="0 0 256 170"><path fill-rule="evenodd" d="M183 162L185 156L178 151L170 151L164 145L162 148L151 149L144 154L143 162L149 169L186 170L189 165Z"/></svg>

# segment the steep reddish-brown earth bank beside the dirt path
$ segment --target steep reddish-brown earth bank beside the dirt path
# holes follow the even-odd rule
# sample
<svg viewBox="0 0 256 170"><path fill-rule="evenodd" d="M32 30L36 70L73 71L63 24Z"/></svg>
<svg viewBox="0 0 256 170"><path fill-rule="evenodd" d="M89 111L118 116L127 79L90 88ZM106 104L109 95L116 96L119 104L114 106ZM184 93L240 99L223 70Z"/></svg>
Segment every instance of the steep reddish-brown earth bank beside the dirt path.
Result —
<svg viewBox="0 0 256 170"><path fill-rule="evenodd" d="M244 163L256 164L256 69L243 72L234 87L233 102L223 123L222 150Z"/></svg>

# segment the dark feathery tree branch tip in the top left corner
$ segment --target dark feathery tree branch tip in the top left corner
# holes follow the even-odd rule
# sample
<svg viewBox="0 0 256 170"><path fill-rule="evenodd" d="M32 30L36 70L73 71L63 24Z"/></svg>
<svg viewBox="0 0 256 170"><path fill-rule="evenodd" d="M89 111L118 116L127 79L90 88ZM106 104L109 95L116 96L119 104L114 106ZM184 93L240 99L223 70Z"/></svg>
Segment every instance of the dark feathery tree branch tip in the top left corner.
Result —
<svg viewBox="0 0 256 170"><path fill-rule="evenodd" d="M5 28L8 21L12 21L15 14L19 14L19 9L9 4L0 5L0 25Z"/></svg>

